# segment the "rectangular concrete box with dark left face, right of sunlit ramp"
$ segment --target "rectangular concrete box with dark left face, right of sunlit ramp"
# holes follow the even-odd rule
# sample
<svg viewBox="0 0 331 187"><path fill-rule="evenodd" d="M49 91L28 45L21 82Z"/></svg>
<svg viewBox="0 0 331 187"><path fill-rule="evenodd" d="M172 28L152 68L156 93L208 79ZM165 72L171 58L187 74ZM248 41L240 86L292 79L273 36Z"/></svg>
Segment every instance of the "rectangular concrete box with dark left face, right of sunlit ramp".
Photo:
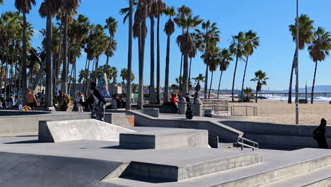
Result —
<svg viewBox="0 0 331 187"><path fill-rule="evenodd" d="M208 147L208 131L178 128L120 134L120 147L128 149L164 149Z"/></svg>

